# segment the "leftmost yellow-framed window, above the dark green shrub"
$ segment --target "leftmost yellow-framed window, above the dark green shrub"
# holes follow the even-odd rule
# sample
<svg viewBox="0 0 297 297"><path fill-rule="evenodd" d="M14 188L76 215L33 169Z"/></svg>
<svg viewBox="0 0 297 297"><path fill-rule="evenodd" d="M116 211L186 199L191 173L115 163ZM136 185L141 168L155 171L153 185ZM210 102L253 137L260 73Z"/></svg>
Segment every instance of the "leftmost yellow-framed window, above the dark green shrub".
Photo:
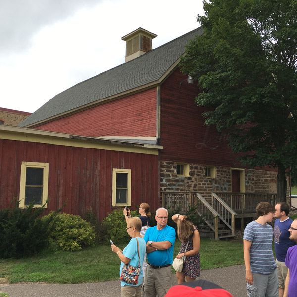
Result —
<svg viewBox="0 0 297 297"><path fill-rule="evenodd" d="M22 162L20 182L20 208L34 203L34 207L45 204L48 198L49 164Z"/></svg>

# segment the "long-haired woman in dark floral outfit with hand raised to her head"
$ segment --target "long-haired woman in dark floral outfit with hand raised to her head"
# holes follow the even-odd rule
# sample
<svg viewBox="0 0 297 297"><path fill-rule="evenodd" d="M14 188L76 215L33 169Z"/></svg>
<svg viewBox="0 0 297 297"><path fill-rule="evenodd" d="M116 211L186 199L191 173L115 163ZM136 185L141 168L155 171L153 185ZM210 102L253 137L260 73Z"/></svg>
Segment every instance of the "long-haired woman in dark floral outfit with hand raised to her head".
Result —
<svg viewBox="0 0 297 297"><path fill-rule="evenodd" d="M177 283L184 283L185 278L188 282L194 281L200 276L199 231L185 215L175 214L172 216L172 220L177 223L177 235L182 242L179 254L176 257L178 259L186 258L182 272L176 272Z"/></svg>

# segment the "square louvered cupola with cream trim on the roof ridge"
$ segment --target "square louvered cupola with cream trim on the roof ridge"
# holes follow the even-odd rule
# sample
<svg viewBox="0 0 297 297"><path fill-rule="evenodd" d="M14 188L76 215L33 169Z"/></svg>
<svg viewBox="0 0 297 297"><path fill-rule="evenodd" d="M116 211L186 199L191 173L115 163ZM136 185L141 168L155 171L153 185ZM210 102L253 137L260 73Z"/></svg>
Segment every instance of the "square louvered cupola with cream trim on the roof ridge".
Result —
<svg viewBox="0 0 297 297"><path fill-rule="evenodd" d="M142 54L152 50L152 39L157 37L143 28L138 28L122 37L126 41L125 62L131 61Z"/></svg>

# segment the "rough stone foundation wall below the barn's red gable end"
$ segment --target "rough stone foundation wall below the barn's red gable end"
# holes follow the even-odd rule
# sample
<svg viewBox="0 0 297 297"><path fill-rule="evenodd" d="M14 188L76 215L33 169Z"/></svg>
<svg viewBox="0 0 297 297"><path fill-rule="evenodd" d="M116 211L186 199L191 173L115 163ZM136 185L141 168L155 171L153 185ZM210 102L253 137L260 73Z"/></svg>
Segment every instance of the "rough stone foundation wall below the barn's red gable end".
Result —
<svg viewBox="0 0 297 297"><path fill-rule="evenodd" d="M231 168L216 166L216 177L205 176L205 165L190 164L189 176L178 176L176 162L160 162L161 191L198 192L206 200L211 193L231 192ZM245 192L276 193L277 172L245 169Z"/></svg>

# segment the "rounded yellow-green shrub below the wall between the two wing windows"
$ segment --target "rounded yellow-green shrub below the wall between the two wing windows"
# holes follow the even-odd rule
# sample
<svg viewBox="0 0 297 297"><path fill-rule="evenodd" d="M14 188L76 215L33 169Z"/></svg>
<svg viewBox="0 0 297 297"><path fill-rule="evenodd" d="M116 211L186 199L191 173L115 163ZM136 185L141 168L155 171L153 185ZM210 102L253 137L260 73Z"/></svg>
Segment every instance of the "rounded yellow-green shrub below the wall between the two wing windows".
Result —
<svg viewBox="0 0 297 297"><path fill-rule="evenodd" d="M67 213L55 214L50 212L43 217L49 223L49 241L57 243L63 250L75 251L95 244L95 231L89 222L83 220L79 215Z"/></svg>

